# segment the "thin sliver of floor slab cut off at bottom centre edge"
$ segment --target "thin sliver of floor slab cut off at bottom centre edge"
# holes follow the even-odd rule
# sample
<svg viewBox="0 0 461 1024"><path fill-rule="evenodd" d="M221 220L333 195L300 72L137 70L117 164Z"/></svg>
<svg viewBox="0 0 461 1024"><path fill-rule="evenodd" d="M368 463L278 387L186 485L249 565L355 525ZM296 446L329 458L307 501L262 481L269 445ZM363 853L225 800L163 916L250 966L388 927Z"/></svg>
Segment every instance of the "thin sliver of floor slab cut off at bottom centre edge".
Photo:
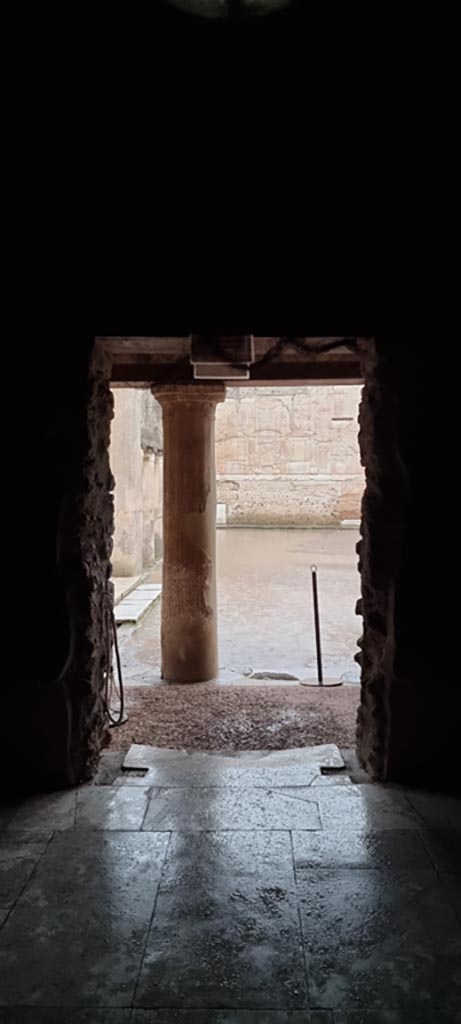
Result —
<svg viewBox="0 0 461 1024"><path fill-rule="evenodd" d="M328 1010L134 1010L130 1024L333 1024L333 1017Z"/></svg>

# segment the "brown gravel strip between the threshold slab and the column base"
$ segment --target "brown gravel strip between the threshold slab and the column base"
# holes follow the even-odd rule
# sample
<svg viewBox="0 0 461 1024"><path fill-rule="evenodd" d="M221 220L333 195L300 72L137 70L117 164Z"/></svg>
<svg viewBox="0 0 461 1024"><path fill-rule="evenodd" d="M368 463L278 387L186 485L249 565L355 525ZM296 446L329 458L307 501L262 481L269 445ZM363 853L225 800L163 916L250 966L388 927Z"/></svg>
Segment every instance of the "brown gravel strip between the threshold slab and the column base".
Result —
<svg viewBox="0 0 461 1024"><path fill-rule="evenodd" d="M129 687L128 722L111 731L114 751L131 743L187 751L284 750L316 743L353 746L359 686L195 683Z"/></svg>

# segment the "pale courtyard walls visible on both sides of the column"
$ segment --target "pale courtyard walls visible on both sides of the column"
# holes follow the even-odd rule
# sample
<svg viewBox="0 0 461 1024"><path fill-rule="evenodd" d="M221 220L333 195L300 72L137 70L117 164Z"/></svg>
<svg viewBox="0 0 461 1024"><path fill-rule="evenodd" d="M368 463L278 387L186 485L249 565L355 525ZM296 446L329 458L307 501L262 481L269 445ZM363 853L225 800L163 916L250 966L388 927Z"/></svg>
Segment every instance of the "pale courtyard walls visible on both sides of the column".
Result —
<svg viewBox="0 0 461 1024"><path fill-rule="evenodd" d="M358 520L361 387L227 387L216 413L218 524L338 526ZM115 575L162 552L162 423L145 389L114 388Z"/></svg>

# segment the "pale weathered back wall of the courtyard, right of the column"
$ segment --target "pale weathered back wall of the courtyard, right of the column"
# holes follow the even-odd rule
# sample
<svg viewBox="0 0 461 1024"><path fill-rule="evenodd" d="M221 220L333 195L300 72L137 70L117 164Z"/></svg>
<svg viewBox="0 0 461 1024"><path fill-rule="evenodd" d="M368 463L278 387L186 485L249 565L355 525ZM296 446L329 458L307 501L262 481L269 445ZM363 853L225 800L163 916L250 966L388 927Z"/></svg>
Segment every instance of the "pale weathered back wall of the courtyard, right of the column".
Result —
<svg viewBox="0 0 461 1024"><path fill-rule="evenodd" d="M216 414L220 525L359 519L361 387L227 388Z"/></svg>

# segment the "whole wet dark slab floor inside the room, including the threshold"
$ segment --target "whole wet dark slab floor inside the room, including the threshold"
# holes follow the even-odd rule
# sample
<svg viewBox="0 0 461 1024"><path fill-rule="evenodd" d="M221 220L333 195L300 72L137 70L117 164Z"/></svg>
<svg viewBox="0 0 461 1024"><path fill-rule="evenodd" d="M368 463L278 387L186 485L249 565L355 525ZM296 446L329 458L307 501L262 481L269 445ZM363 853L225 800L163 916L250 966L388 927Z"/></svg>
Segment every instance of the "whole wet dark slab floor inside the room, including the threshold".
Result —
<svg viewBox="0 0 461 1024"><path fill-rule="evenodd" d="M1 1024L461 1022L461 801L141 754L1 810Z"/></svg>

